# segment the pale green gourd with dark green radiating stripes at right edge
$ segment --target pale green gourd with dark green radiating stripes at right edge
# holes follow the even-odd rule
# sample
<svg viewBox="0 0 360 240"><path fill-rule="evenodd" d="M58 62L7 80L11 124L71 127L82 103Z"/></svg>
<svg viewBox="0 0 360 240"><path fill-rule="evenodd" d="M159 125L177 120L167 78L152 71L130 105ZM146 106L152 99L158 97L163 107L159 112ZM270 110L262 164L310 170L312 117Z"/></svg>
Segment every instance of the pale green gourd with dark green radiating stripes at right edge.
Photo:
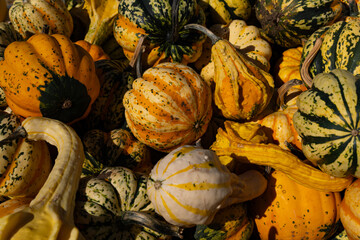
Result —
<svg viewBox="0 0 360 240"><path fill-rule="evenodd" d="M293 123L304 155L332 176L360 177L359 91L358 76L334 69L318 74L297 100Z"/></svg>

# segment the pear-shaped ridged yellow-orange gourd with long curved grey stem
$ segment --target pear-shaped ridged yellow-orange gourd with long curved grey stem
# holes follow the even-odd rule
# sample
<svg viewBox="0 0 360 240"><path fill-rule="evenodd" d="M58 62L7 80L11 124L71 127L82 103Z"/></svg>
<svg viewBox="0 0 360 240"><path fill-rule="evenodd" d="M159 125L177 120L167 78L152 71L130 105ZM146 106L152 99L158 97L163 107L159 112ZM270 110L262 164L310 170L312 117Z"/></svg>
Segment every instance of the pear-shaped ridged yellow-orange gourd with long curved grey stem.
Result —
<svg viewBox="0 0 360 240"><path fill-rule="evenodd" d="M232 120L249 120L260 114L274 93L274 79L268 72L248 60L229 41L216 36L198 24L197 29L212 41L211 61L214 63L214 102L222 115Z"/></svg>

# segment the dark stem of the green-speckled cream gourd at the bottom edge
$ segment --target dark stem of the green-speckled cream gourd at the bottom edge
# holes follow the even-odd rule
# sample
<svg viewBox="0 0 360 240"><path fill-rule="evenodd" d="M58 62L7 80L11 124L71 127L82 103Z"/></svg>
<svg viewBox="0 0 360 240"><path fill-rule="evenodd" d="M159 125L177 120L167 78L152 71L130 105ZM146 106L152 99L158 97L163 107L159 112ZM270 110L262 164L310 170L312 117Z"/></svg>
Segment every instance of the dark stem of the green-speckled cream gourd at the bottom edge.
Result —
<svg viewBox="0 0 360 240"><path fill-rule="evenodd" d="M180 239L183 238L183 228L161 221L145 212L123 211L121 212L121 216L118 217L118 220L123 224L137 224L161 234L178 237Z"/></svg>

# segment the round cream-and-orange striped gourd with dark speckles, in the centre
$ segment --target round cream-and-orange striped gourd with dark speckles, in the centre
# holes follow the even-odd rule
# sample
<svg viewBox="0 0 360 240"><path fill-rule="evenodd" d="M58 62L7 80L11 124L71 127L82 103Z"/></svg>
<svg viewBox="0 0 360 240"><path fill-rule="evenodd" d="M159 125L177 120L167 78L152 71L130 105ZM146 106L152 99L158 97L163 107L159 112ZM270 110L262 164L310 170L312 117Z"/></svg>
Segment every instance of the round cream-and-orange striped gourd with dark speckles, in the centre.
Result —
<svg viewBox="0 0 360 240"><path fill-rule="evenodd" d="M210 87L179 63L148 68L134 80L123 104L135 137L162 152L198 140L212 117Z"/></svg>

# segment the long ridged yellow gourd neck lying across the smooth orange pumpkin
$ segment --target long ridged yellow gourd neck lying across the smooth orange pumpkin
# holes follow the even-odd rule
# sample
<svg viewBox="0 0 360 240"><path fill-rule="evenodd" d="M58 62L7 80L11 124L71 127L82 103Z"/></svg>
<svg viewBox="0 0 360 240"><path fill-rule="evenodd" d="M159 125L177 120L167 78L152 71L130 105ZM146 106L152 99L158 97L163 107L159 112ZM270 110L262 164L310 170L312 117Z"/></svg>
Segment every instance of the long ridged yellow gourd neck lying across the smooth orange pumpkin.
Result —
<svg viewBox="0 0 360 240"><path fill-rule="evenodd" d="M353 177L333 177L298 159L290 151L270 143L255 143L245 140L241 134L243 123L226 121L225 130L219 128L216 141L210 146L221 158L233 157L253 164L270 166L286 173L294 181L310 188L326 192L340 192L348 187ZM251 126L250 126L251 127Z"/></svg>

